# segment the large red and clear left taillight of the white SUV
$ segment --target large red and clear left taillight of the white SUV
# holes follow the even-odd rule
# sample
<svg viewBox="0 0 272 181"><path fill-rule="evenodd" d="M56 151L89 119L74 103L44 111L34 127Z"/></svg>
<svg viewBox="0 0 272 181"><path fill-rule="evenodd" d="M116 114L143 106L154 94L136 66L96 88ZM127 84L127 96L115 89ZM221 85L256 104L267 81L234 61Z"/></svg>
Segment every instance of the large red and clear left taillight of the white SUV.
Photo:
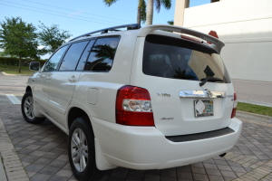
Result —
<svg viewBox="0 0 272 181"><path fill-rule="evenodd" d="M148 90L123 86L117 91L116 122L128 126L154 126L151 96Z"/></svg>

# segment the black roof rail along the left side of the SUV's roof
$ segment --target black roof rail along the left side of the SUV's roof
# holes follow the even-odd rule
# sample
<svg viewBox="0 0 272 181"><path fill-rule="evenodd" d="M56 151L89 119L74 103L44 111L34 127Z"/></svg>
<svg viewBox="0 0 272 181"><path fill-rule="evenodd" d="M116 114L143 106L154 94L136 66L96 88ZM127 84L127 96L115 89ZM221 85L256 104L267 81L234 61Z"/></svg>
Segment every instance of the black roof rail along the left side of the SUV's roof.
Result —
<svg viewBox="0 0 272 181"><path fill-rule="evenodd" d="M84 36L90 36L93 33L100 33L100 32L101 33L108 33L109 31L116 31L116 32L120 31L120 30L117 30L118 28L127 28L127 30L137 30L137 29L141 28L141 24L124 24L124 25L119 25L119 26L113 26L113 27L110 27L110 28L105 28L105 29L102 29L102 30L97 30L97 31L90 32L90 33L84 33L83 35L80 35L80 36L77 36L77 37L73 38L69 42L71 42L73 40L76 40L78 38L84 37Z"/></svg>

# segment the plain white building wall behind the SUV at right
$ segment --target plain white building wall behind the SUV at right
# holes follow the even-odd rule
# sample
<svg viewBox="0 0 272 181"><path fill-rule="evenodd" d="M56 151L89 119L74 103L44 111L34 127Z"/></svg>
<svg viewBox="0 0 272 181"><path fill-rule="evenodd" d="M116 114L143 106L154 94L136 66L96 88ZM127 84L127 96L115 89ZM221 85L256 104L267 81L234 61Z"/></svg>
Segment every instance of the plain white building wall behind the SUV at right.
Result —
<svg viewBox="0 0 272 181"><path fill-rule="evenodd" d="M224 0L185 9L183 26L219 34L232 79L272 82L271 9L271 0Z"/></svg>

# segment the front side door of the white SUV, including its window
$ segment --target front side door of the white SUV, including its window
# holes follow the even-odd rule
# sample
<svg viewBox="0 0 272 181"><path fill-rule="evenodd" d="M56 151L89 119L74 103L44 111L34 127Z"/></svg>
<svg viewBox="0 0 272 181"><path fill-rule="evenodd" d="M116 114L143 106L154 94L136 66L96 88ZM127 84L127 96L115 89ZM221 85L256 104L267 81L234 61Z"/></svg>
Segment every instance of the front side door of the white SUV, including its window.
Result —
<svg viewBox="0 0 272 181"><path fill-rule="evenodd" d="M53 72L56 70L59 62L62 60L64 52L67 50L68 46L63 46L58 51L54 52L53 56L44 64L41 72L38 73L34 81L34 101L36 103L36 108L45 114L48 110L48 91L49 84L52 80Z"/></svg>

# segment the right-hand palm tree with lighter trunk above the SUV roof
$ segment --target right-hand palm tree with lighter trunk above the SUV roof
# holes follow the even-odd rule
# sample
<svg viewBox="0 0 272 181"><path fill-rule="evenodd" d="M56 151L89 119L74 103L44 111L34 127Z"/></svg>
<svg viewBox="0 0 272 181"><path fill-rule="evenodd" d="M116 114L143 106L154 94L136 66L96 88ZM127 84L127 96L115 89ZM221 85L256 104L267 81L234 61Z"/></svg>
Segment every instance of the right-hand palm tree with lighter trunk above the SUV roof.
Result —
<svg viewBox="0 0 272 181"><path fill-rule="evenodd" d="M156 10L160 13L160 6L163 5L167 10L171 7L171 0L148 0L146 25L151 25L153 22L153 5L155 1Z"/></svg>

